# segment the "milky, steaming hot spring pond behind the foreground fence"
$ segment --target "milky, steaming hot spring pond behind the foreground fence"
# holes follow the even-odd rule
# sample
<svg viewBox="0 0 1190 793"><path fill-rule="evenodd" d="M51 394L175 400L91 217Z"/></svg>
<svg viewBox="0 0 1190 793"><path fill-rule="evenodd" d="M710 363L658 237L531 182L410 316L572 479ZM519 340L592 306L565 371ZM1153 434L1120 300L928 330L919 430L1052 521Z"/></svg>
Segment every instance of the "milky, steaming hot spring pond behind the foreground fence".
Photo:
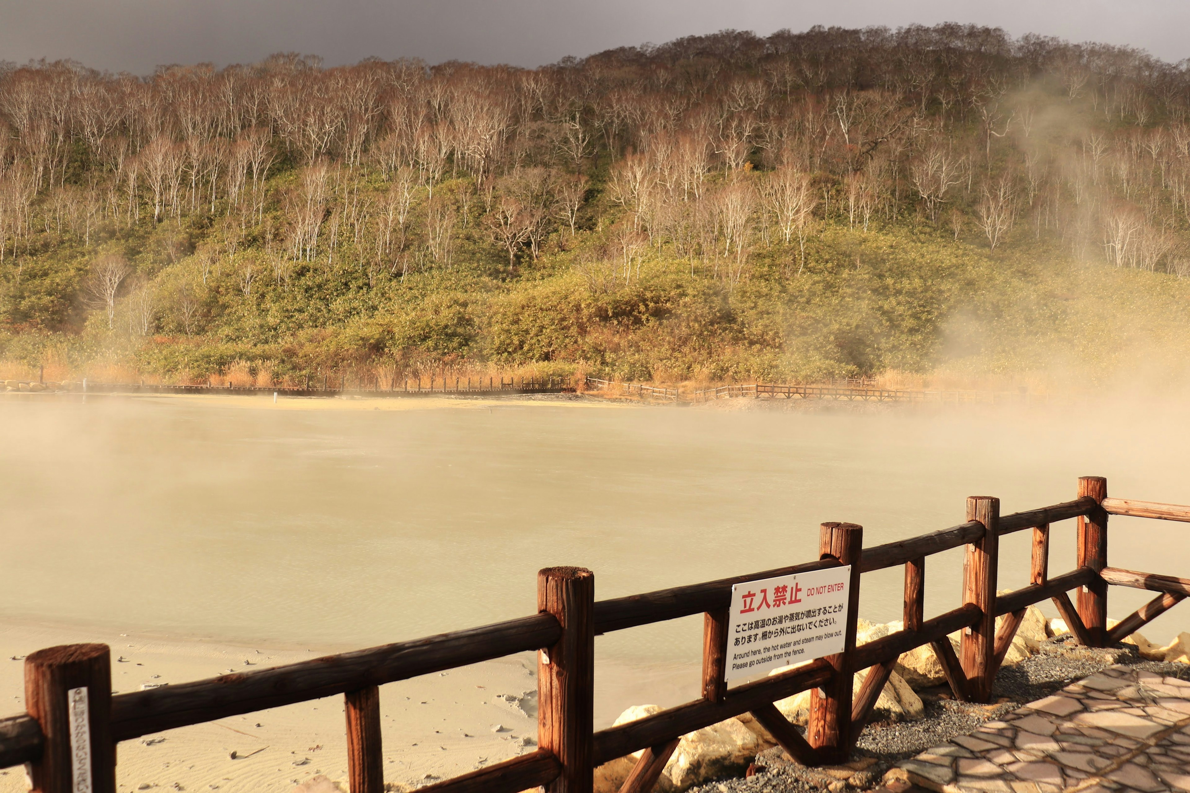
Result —
<svg viewBox="0 0 1190 793"><path fill-rule="evenodd" d="M283 407L283 405L282 405ZM607 598L816 558L818 525L876 545L1109 493L1190 503L1177 405L871 413L499 405L287 410L218 399L0 402L0 618L230 641L364 647L525 616L536 572ZM1184 524L1113 517L1114 566L1188 573ZM1056 524L1051 573L1073 566ZM1001 587L1028 574L1006 537ZM962 552L927 561L927 616ZM901 571L860 616L901 616ZM1113 589L1120 618L1147 593ZM1154 641L1188 627L1175 609ZM701 619L601 637L601 659L684 665Z"/></svg>

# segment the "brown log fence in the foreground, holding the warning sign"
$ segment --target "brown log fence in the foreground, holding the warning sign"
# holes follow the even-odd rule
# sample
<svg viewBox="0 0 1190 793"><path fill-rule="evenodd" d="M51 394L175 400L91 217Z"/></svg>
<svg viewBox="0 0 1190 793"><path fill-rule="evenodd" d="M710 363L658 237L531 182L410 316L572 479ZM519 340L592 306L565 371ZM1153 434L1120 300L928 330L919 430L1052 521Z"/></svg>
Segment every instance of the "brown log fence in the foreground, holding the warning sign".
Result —
<svg viewBox="0 0 1190 793"><path fill-rule="evenodd" d="M0 719L0 767L29 763L35 789L43 793L115 793L120 741L343 694L350 788L381 793L378 686L526 650L538 653L539 748L421 789L514 793L544 785L551 793L589 793L595 766L643 750L621 788L641 793L653 787L682 735L745 712L800 762L839 762L851 753L902 653L931 644L954 696L987 701L1029 604L1053 599L1081 643L1103 647L1190 594L1190 579L1109 567L1108 515L1190 522L1190 506L1108 498L1106 479L1083 477L1073 501L1001 516L997 498L976 496L967 499L965 523L872 548L863 548L862 527L823 523L816 560L644 594L595 600L593 573L553 567L538 574L538 612L528 617L118 696L112 694L106 644L52 647L25 660L27 713ZM1076 566L1050 575L1051 524L1071 518L1077 518ZM1027 529L1033 533L1031 583L997 596L1000 537ZM927 619L926 558L960 546L966 546L963 603ZM852 566L844 650L728 690L724 676L732 585L840 565ZM895 566L904 567L904 629L857 647L860 574ZM1109 584L1158 594L1108 630ZM1077 605L1067 596L1073 589ZM702 697L595 732L595 637L697 613L704 615ZM998 616L1007 618L997 631ZM958 654L947 640L957 630L963 630ZM853 698L852 674L860 669L869 673ZM812 691L810 717L802 736L774 703L806 690Z"/></svg>

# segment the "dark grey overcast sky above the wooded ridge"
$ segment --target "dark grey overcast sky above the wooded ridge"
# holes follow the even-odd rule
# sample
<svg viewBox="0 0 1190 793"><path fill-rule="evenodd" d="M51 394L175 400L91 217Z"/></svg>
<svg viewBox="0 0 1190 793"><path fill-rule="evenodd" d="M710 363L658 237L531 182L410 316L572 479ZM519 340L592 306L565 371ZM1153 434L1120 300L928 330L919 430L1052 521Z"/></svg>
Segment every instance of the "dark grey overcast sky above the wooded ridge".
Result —
<svg viewBox="0 0 1190 793"><path fill-rule="evenodd" d="M0 61L74 58L145 74L298 51L328 65L416 56L536 67L727 27L940 21L1190 57L1185 0L0 0Z"/></svg>

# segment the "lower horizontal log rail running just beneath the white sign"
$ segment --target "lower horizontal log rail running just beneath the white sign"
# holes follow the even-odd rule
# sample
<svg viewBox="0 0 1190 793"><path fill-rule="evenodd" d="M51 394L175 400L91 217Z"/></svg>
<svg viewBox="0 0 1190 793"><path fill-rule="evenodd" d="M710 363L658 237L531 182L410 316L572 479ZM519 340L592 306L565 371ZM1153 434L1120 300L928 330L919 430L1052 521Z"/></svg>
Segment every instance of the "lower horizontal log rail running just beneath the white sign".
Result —
<svg viewBox="0 0 1190 793"><path fill-rule="evenodd" d="M635 722L600 730L595 734L594 763L600 766L609 760L631 755L633 751L663 744L679 735L701 730L760 705L821 686L831 678L831 666L820 659L796 669L732 688L721 703L696 699Z"/></svg>

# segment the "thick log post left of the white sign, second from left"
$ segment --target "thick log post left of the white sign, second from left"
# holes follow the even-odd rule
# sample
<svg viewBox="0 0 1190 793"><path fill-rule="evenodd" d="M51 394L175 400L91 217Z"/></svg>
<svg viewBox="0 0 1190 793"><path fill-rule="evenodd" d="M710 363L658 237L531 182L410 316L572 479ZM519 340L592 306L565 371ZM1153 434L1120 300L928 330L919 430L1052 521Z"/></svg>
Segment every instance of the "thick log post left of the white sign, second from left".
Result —
<svg viewBox="0 0 1190 793"><path fill-rule="evenodd" d="M582 567L537 574L537 609L552 613L562 638L538 653L537 741L562 763L546 793L591 793L595 697L595 575Z"/></svg>

